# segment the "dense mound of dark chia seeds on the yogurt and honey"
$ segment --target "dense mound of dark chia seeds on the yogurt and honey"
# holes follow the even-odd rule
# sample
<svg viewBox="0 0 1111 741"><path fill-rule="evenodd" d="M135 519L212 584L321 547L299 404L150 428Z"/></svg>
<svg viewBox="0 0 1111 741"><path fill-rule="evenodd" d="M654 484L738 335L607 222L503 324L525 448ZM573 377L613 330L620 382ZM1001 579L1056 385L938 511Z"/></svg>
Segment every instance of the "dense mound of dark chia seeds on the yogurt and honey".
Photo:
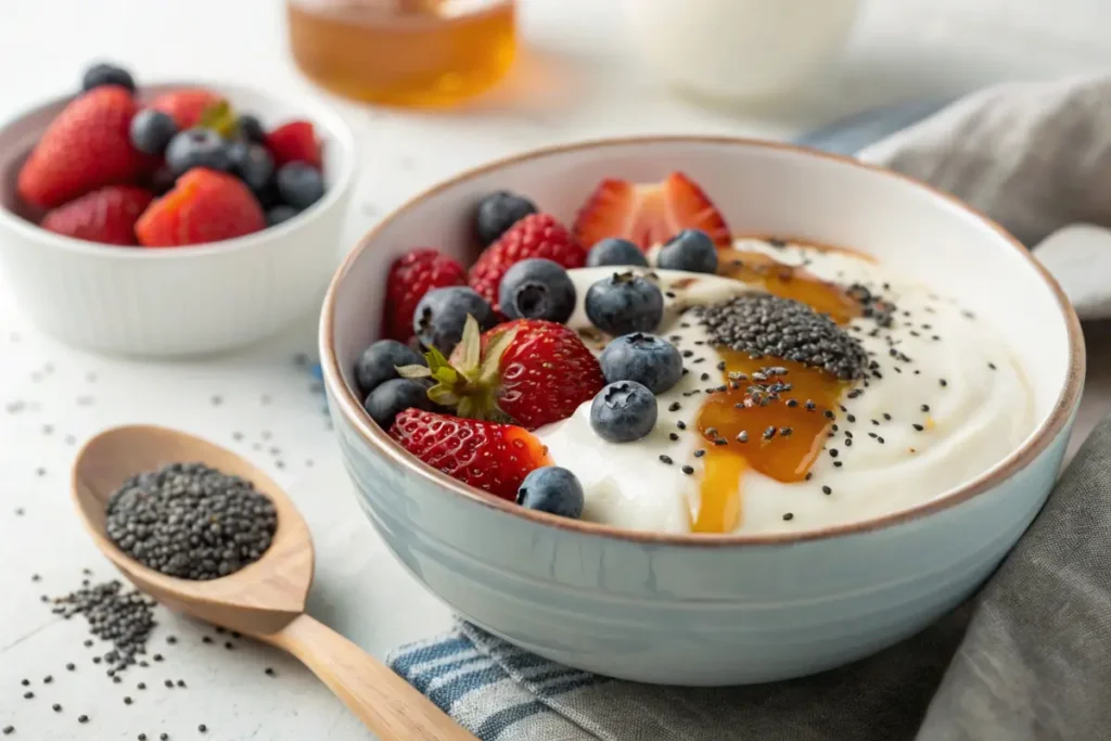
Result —
<svg viewBox="0 0 1111 741"><path fill-rule="evenodd" d="M847 381L868 375L869 358L860 341L800 301L745 293L699 308L698 316L715 344L754 359L792 360Z"/></svg>

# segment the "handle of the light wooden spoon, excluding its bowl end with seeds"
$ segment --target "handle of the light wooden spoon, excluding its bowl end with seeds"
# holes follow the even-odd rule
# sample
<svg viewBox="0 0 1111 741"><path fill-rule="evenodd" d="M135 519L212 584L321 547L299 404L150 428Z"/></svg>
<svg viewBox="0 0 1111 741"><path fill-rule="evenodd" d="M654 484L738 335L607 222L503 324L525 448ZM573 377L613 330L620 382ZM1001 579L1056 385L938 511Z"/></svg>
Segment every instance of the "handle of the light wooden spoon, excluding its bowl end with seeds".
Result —
<svg viewBox="0 0 1111 741"><path fill-rule="evenodd" d="M266 638L312 670L382 741L478 741L386 664L307 614Z"/></svg>

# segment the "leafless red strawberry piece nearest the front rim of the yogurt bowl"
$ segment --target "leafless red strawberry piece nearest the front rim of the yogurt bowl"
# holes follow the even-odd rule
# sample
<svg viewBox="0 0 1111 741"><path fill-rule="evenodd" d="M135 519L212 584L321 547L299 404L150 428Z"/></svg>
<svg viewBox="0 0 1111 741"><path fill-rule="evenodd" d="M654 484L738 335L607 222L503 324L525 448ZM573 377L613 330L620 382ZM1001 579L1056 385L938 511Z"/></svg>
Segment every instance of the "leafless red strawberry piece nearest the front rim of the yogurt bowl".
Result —
<svg viewBox="0 0 1111 741"><path fill-rule="evenodd" d="M548 464L548 449L513 424L409 409L390 437L432 468L510 501L530 471Z"/></svg>

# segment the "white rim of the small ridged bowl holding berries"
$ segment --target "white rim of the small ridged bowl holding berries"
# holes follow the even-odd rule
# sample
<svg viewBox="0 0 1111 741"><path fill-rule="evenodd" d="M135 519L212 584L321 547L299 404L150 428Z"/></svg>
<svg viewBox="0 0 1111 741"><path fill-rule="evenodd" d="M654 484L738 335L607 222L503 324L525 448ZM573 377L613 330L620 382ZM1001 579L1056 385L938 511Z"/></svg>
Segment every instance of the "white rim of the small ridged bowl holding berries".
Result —
<svg viewBox="0 0 1111 741"><path fill-rule="evenodd" d="M296 218L274 227L267 227L262 231L233 239L224 239L218 242L207 242L203 244L189 244L172 248L142 248L121 247L116 244L99 244L74 237L66 237L42 229L37 223L32 223L21 218L16 212L0 206L0 227L11 229L22 238L49 244L51 248L69 250L82 256L103 258L106 260L187 260L202 254L230 253L241 250L249 250L264 243L268 239L281 233L306 227L320 218L326 211L331 210L338 203L342 203L344 194L351 189L357 171L357 147L354 133L351 127L331 107L304 94L278 94L264 88L240 84L234 81L219 81L210 79L190 80L154 80L147 84L137 87L134 94L140 99L150 93L168 92L181 89L203 88L212 90L227 97L234 97L237 93L247 93L257 98L264 98L271 101L282 101L290 103L293 108L304 111L304 117L312 121L318 129L328 132L327 141L334 142L340 152L336 158L340 163L337 172L329 173L332 177L332 184L324 191L324 197L298 213ZM46 112L51 108L63 106L80 94L80 91L57 96L30 108L22 109L12 116L0 121L0 132L10 127L29 119L33 116Z"/></svg>

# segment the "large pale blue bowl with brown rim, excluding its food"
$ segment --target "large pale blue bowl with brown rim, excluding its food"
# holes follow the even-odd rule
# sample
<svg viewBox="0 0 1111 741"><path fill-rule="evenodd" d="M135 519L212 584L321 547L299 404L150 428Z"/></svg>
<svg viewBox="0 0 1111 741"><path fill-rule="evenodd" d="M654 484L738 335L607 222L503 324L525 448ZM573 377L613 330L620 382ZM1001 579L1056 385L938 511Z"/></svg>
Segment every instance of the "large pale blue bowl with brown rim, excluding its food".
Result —
<svg viewBox="0 0 1111 741"><path fill-rule="evenodd" d="M653 181L671 170L699 181L738 233L863 250L990 318L1032 381L1035 432L974 481L891 515L800 534L672 535L520 509L419 462L363 413L351 369L376 339L393 259L426 244L466 256L474 204L497 188L570 220L601 178ZM462 617L549 659L675 684L829 669L910 635L965 599L1044 502L1084 368L1064 296L985 218L849 159L714 138L562 147L433 188L348 257L324 301L320 347L360 501L418 580Z"/></svg>

